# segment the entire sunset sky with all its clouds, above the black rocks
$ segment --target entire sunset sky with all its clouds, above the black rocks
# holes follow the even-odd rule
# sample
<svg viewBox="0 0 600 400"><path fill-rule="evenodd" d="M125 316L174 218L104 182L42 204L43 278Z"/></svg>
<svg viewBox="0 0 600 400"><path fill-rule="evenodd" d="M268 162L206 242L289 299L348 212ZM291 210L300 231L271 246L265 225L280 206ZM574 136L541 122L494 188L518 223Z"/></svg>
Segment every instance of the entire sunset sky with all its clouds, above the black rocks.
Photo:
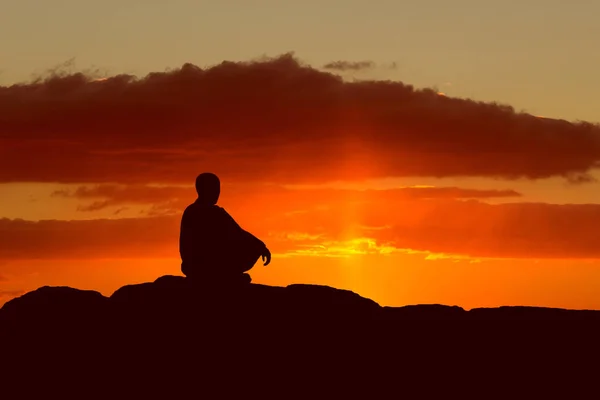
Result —
<svg viewBox="0 0 600 400"><path fill-rule="evenodd" d="M600 2L8 0L0 305L180 274L194 179L253 281L600 309Z"/></svg>

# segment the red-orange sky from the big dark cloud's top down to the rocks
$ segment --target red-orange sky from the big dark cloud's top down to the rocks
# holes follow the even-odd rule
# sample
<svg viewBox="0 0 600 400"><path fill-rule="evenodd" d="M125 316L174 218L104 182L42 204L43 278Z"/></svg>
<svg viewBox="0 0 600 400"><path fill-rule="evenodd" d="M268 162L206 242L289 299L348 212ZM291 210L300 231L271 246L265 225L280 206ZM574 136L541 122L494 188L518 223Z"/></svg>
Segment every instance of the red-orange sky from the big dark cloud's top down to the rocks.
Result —
<svg viewBox="0 0 600 400"><path fill-rule="evenodd" d="M0 303L178 274L193 180L274 254L254 282L384 305L598 308L600 127L290 56L0 87Z"/></svg>

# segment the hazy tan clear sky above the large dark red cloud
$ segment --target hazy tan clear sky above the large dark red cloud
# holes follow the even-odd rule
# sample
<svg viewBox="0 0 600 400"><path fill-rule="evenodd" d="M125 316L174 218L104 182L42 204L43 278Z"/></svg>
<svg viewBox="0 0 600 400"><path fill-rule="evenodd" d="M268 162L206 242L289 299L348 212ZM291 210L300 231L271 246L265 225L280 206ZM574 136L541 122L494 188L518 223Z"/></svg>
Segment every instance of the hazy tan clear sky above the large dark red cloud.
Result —
<svg viewBox="0 0 600 400"><path fill-rule="evenodd" d="M139 75L294 51L314 66L371 60L381 68L368 77L600 121L591 0L0 0L0 9L3 85L71 59Z"/></svg>

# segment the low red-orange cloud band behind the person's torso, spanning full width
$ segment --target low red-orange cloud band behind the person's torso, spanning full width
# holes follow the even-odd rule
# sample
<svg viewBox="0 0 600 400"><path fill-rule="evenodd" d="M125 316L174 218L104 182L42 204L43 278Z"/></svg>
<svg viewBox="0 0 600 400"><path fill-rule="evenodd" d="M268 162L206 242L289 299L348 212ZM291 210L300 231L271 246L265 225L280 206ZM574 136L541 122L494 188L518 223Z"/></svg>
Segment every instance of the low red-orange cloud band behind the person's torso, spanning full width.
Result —
<svg viewBox="0 0 600 400"><path fill-rule="evenodd" d="M277 254L316 248L320 254L346 254L358 248L491 258L600 258L598 204L382 196L313 199L310 207L302 201L284 207L273 200L227 209ZM179 218L178 213L114 220L3 219L0 259L178 257Z"/></svg>

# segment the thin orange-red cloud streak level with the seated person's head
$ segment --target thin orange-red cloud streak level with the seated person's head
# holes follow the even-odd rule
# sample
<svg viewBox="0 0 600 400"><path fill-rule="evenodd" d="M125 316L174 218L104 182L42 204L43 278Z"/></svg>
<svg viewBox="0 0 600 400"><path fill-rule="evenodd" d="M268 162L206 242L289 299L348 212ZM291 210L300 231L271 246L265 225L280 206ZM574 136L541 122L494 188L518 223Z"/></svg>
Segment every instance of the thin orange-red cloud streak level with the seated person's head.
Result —
<svg viewBox="0 0 600 400"><path fill-rule="evenodd" d="M149 185L83 185L75 190L60 190L54 196L77 198L87 201L80 211L97 211L109 207L142 204L152 205L155 212L172 213L182 211L196 198L192 185L149 186ZM269 204L269 209L289 211L305 209L317 203L327 202L343 205L349 201L401 201L417 199L491 199L519 197L520 193L506 190L464 189L458 187L404 187L386 190L347 189L302 189L291 190L281 186L260 185L238 187L225 185L223 198L233 207L245 204L260 208Z"/></svg>

